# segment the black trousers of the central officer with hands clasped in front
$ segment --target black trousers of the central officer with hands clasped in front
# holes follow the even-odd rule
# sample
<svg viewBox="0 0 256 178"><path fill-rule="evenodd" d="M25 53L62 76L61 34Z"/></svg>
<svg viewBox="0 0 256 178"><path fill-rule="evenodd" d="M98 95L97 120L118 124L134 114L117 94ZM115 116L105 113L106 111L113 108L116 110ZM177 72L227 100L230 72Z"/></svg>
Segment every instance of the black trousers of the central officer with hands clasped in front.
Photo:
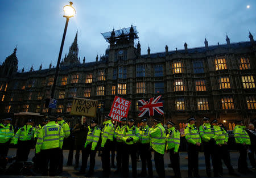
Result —
<svg viewBox="0 0 256 178"><path fill-rule="evenodd" d="M131 167L133 169L133 177L137 177L137 145L127 145L124 143L123 146L123 158L122 158L122 173L123 176L128 176L129 173L129 158L131 155Z"/></svg>

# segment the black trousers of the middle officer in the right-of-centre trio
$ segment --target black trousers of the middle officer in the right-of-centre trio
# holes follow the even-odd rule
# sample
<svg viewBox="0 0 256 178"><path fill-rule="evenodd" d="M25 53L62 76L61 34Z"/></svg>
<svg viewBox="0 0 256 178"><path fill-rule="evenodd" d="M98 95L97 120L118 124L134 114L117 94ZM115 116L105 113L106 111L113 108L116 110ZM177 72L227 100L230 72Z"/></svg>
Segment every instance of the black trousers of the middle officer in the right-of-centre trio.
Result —
<svg viewBox="0 0 256 178"><path fill-rule="evenodd" d="M209 141L209 142L203 142L204 145L204 158L205 158L205 167L206 167L206 172L207 176L210 177L210 158L212 158L212 166L213 166L213 173L214 177L218 176L218 146L216 145L215 142Z"/></svg>

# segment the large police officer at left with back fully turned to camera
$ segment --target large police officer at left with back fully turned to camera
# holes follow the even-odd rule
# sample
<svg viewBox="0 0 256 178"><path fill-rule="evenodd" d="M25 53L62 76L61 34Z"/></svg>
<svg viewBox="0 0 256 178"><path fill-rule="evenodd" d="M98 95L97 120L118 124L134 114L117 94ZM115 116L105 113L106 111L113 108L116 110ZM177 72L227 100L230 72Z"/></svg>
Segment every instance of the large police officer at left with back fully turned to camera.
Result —
<svg viewBox="0 0 256 178"><path fill-rule="evenodd" d="M59 159L59 152L63 146L63 128L56 124L56 117L49 116L49 121L40 130L36 142L36 154L41 154L43 176L55 176Z"/></svg>

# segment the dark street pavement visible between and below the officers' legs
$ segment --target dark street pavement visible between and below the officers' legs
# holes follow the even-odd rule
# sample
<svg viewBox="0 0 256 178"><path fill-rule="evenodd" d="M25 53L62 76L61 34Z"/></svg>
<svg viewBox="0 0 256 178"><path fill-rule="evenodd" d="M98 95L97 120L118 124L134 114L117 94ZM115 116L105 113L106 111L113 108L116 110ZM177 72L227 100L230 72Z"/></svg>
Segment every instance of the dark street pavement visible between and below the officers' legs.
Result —
<svg viewBox="0 0 256 178"><path fill-rule="evenodd" d="M30 151L30 155L28 156L28 160L32 160L33 156L34 156L34 150ZM75 164L75 152L74 151L74 155L73 155L73 164ZM79 171L79 169L74 170L73 166L67 166L67 159L68 159L68 150L63 150L63 154L64 154L64 165L63 165L63 173L61 173L61 175L59 175L58 177L83 177L84 175L76 175L76 173ZM16 155L16 149L10 149L9 156L13 156ZM238 156L239 153L238 152L230 152L230 158L231 158L231 162L233 165L233 168L237 171L237 161L238 161ZM181 169L181 176L182 177L187 177L187 164L188 164L188 159L186 159L187 157L187 152L180 152L180 169ZM253 173L248 173L247 175L240 175L240 177L256 177L256 171L251 169L250 166L250 162L249 159L247 160L248 163L248 167L250 168L250 170ZM116 164L116 162L115 162ZM157 176L157 173L155 171L155 162L154 162L154 152L152 152L152 164L153 164L153 171L154 171L154 177ZM174 176L174 172L172 171L172 168L168 168L168 164L170 164L170 157L168 153L164 154L164 165L165 165L165 169L166 169L166 177L171 177ZM80 152L80 165L81 165L81 152ZM88 159L88 166L89 166L89 159ZM131 160L130 160L130 164L129 164L129 168L130 168L130 177L131 176ZM223 168L224 168L224 175L223 177L232 177L228 175L228 169L226 169L225 164L223 164ZM88 169L86 170L88 171ZM98 156L98 152L96 154L96 164L95 164L95 169L94 169L94 175L95 177L101 177L102 176L102 167L101 167L101 157ZM114 173L115 168L112 168L112 174L110 175L110 177L120 177L120 175L115 174ZM141 172L141 161L139 160L137 162L137 172L140 173ZM199 174L201 177L206 177L206 172L205 172L205 160L204 160L204 154L203 152L200 152L199 154ZM212 173L213 174L213 173ZM10 176L2 176L2 177L10 177ZM11 176L11 177L27 177L27 176ZM35 176L31 176L31 177L35 177ZM38 176L38 177L43 177L43 176Z"/></svg>

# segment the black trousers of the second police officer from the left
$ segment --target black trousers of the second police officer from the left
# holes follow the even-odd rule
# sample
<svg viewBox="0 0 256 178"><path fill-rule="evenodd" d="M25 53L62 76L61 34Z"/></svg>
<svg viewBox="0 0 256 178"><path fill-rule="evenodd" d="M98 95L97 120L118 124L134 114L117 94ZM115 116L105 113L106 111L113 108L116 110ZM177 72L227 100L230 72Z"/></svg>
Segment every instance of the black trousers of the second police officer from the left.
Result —
<svg viewBox="0 0 256 178"><path fill-rule="evenodd" d="M18 149L16 152L17 162L26 162L28 155L30 154L30 148L32 147L33 141L18 141Z"/></svg>

